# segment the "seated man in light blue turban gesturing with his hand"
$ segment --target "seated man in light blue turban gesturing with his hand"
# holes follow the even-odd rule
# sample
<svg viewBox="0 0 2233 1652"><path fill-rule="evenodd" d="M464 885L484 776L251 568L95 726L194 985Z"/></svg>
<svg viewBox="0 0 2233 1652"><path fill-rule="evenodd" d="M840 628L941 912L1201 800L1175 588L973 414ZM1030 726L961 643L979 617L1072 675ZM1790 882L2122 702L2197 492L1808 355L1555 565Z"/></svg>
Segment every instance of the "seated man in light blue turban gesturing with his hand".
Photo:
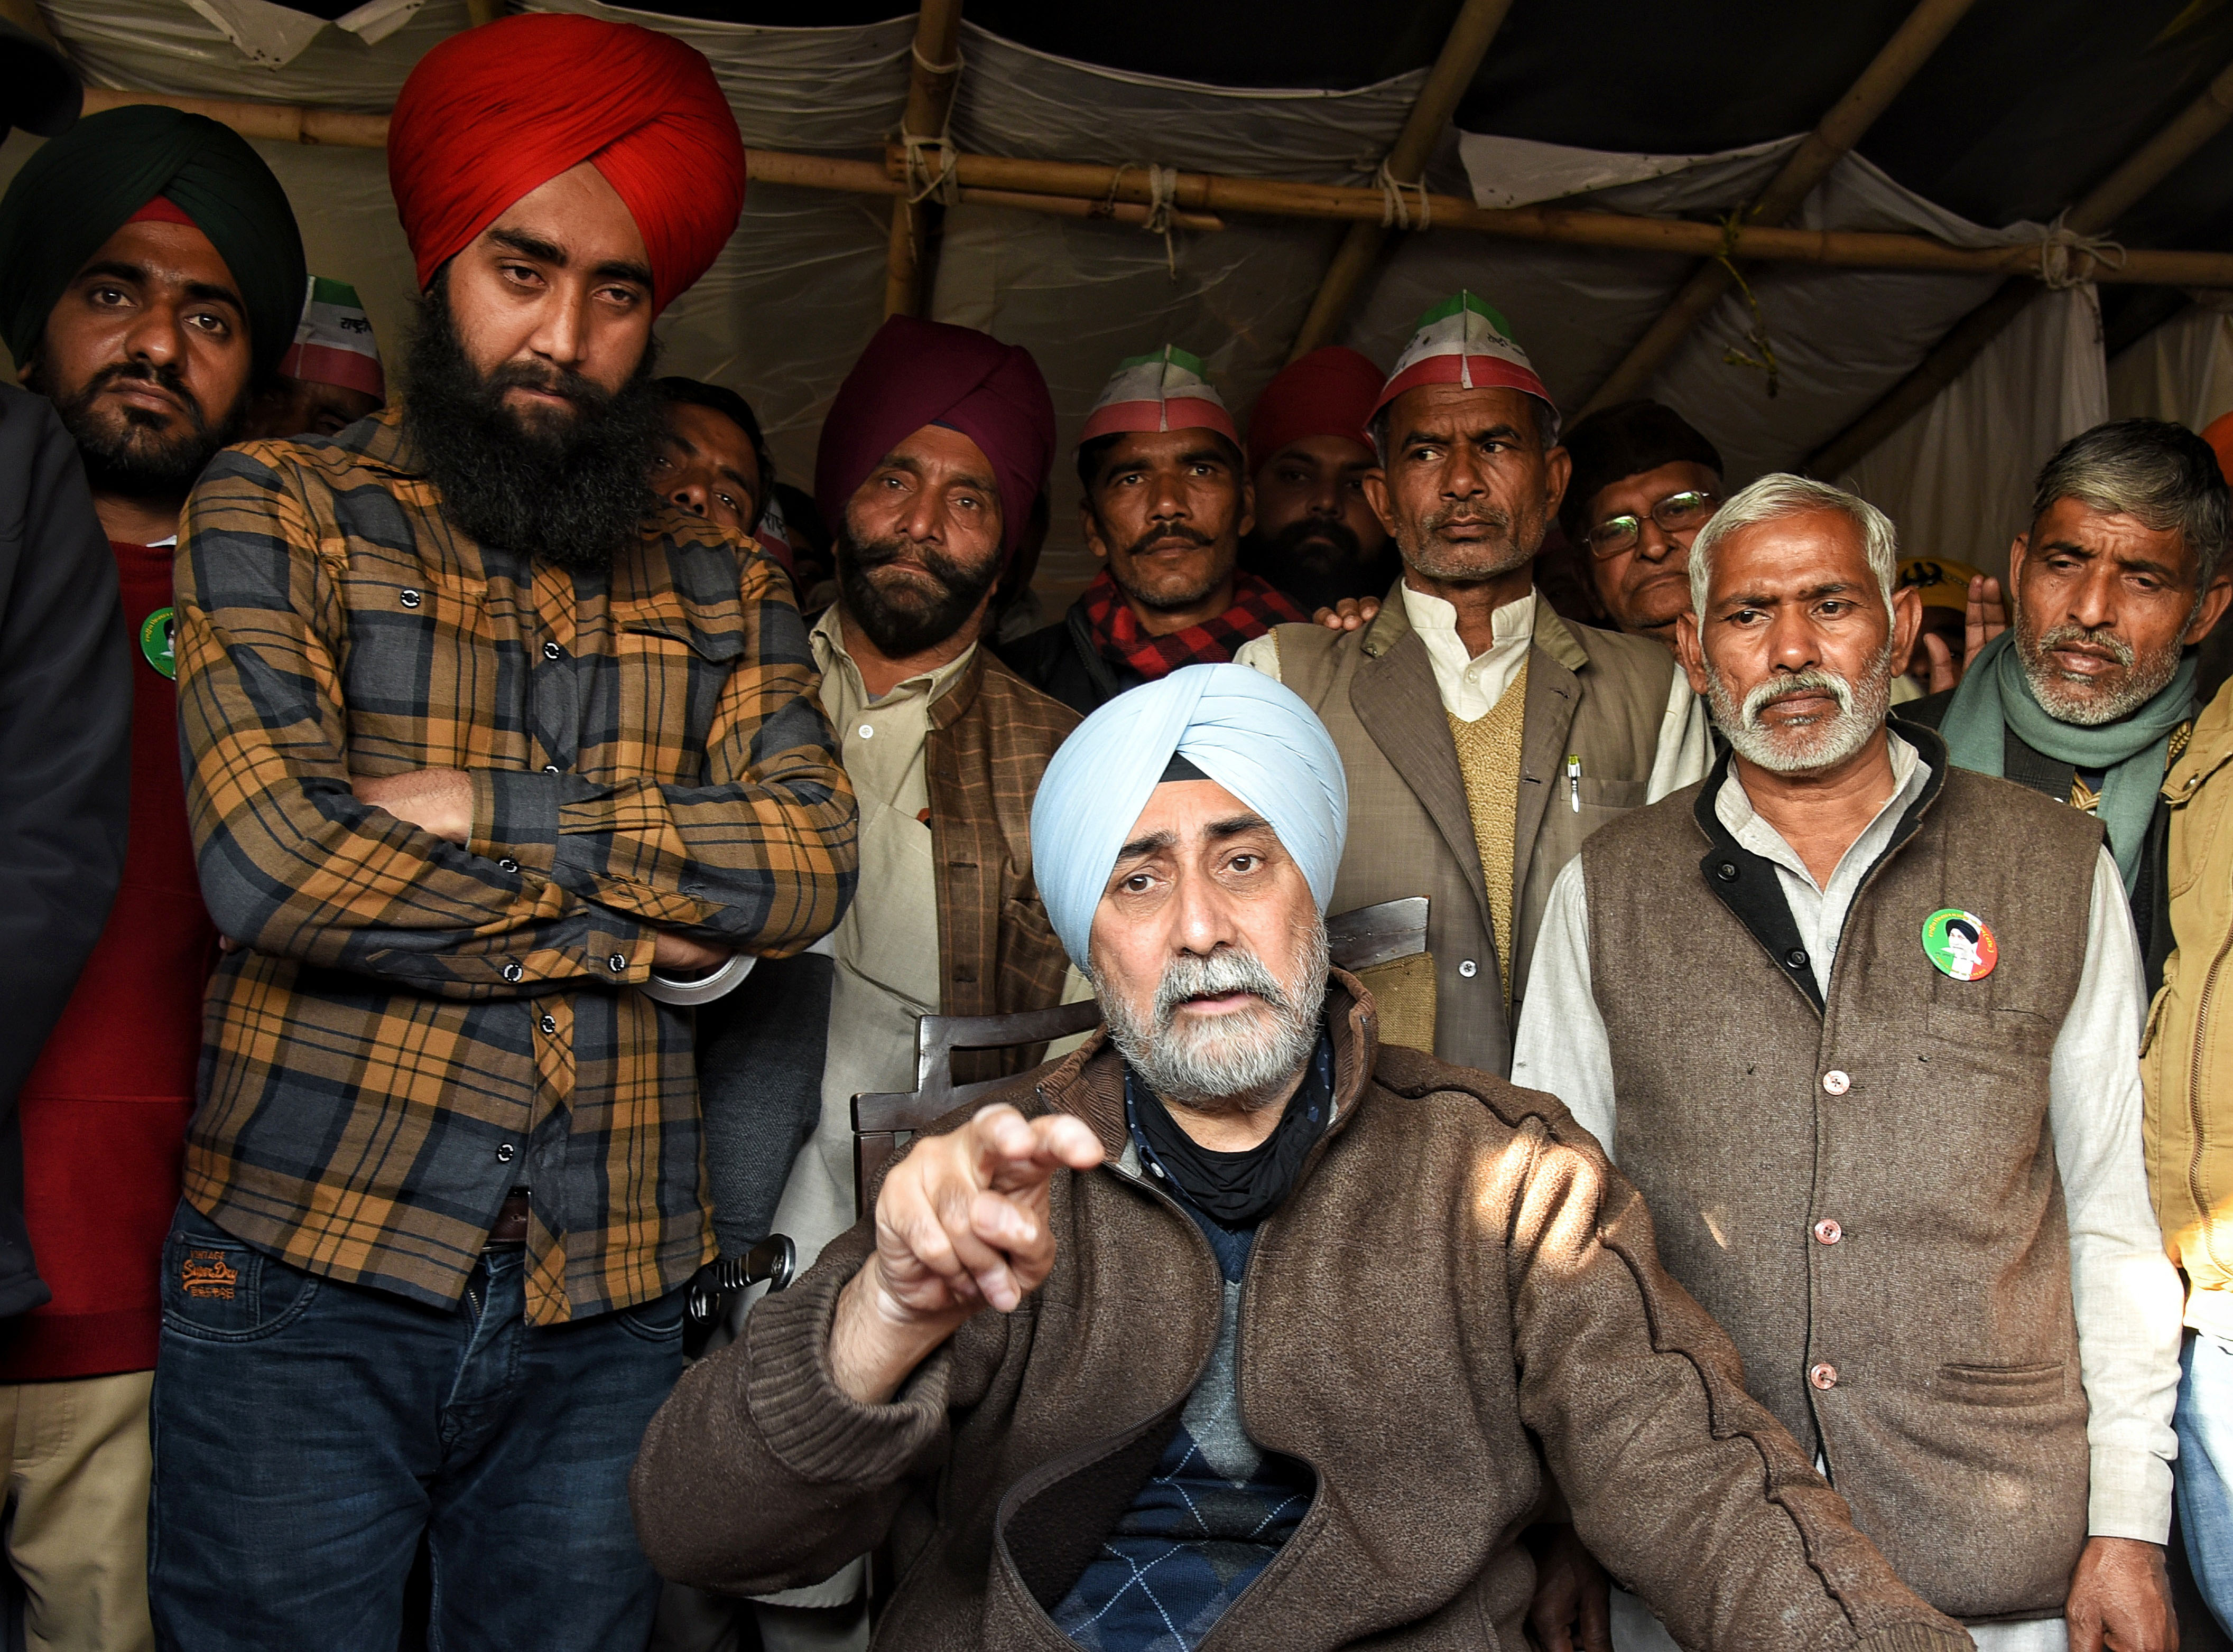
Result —
<svg viewBox="0 0 2233 1652"><path fill-rule="evenodd" d="M1693 1648L1963 1648L1748 1400L1547 1096L1326 967L1346 793L1288 690L1116 697L1032 810L1108 1018L958 1112L636 1462L668 1576L891 1545L880 1648L1525 1643L1559 1502Z"/></svg>

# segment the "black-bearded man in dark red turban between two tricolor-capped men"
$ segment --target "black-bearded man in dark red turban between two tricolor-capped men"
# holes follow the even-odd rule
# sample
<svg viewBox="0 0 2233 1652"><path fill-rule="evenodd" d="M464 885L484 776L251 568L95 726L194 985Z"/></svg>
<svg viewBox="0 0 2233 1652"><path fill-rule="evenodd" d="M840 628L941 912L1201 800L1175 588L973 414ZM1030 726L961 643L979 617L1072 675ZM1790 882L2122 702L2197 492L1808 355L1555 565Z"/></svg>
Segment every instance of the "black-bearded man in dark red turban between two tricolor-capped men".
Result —
<svg viewBox="0 0 2233 1652"><path fill-rule="evenodd" d="M1291 362L1248 415L1255 529L1242 569L1280 587L1300 609L1382 598L1402 574L1396 540L1364 498L1373 438L1364 424L1382 373L1340 344Z"/></svg>

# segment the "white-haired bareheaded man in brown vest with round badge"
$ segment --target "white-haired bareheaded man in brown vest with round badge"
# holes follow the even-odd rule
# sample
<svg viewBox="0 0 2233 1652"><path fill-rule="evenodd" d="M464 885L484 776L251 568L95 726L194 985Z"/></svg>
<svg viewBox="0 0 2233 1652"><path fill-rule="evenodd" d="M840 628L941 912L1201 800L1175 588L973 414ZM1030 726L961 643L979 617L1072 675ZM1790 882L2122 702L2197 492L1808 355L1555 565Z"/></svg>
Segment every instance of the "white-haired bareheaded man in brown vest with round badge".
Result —
<svg viewBox="0 0 2233 1652"><path fill-rule="evenodd" d="M1559 875L1514 1078L1597 1132L1753 1395L1978 1648L2177 1645L2179 1281L2101 826L1887 728L1920 601L1865 500L1753 482L1690 603L1731 752ZM1612 1607L1621 1652L1695 1643Z"/></svg>

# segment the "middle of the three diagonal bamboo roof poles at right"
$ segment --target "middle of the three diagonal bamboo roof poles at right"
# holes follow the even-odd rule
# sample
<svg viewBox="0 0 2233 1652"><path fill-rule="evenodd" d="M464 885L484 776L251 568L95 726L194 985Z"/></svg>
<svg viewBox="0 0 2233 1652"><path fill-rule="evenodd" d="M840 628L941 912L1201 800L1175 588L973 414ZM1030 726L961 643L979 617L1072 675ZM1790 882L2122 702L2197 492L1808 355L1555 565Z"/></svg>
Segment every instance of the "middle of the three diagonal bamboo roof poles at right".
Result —
<svg viewBox="0 0 2233 1652"><path fill-rule="evenodd" d="M1784 161L1769 188L1744 210L1751 223L1780 225L1800 210L1806 194L1829 176L1876 118L1891 107L1916 69L1920 69L1938 45L1947 38L1974 0L1923 0L1907 20L1885 42L1882 51L1869 60L1860 78L1822 116L1822 123L1806 134L1806 141ZM1690 328L1695 328L1719 297L1735 284L1735 272L1722 259L1708 259L1690 270L1668 308L1652 321L1650 330L1637 339L1621 364L1612 368L1597 395L1581 409L1583 415L1601 406L1626 402L1643 393L1652 375L1666 364Z"/></svg>

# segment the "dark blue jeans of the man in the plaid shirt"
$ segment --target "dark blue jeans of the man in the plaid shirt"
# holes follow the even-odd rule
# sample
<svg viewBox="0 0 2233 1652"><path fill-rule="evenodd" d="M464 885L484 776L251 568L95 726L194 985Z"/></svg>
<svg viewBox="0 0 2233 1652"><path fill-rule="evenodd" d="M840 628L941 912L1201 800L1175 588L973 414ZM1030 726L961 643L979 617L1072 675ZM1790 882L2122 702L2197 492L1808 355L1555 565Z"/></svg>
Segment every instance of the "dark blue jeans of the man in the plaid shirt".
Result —
<svg viewBox="0 0 2233 1652"><path fill-rule="evenodd" d="M192 1286L192 1288L188 1288ZM683 1293L529 1326L523 1257L456 1308L319 1279L190 1206L163 1248L147 1576L165 1652L634 1652L659 1605L627 1469Z"/></svg>

